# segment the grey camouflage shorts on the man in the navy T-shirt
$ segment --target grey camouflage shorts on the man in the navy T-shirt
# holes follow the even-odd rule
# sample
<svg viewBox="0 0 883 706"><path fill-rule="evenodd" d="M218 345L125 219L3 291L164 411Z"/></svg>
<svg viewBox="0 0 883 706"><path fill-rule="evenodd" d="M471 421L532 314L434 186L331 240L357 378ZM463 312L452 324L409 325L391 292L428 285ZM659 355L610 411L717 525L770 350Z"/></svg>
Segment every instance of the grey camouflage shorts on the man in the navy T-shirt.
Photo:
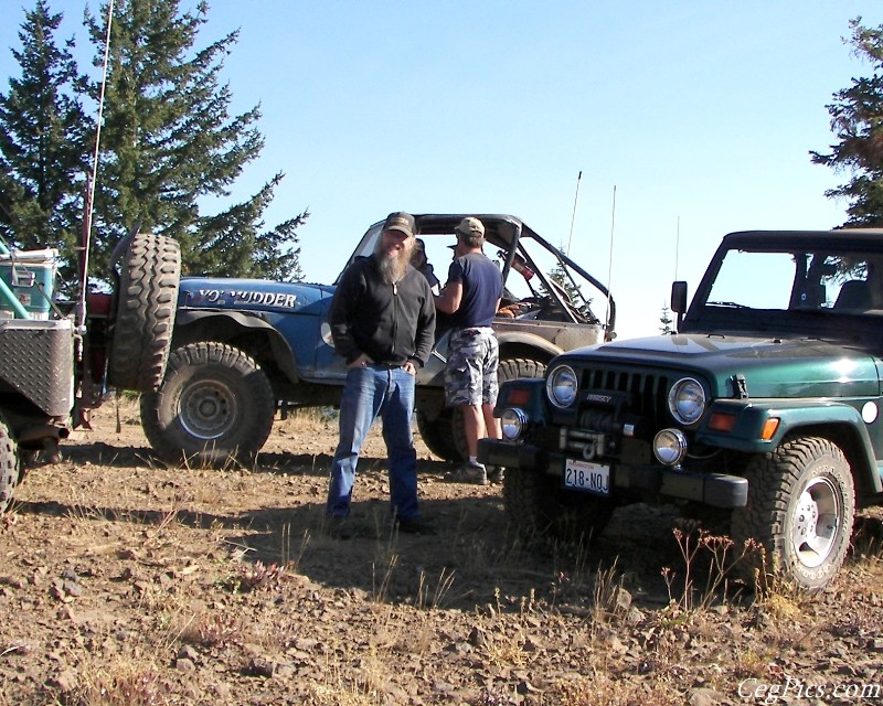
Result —
<svg viewBox="0 0 883 706"><path fill-rule="evenodd" d="M497 403L497 366L500 346L490 327L455 329L450 333L445 368L445 402L448 406Z"/></svg>

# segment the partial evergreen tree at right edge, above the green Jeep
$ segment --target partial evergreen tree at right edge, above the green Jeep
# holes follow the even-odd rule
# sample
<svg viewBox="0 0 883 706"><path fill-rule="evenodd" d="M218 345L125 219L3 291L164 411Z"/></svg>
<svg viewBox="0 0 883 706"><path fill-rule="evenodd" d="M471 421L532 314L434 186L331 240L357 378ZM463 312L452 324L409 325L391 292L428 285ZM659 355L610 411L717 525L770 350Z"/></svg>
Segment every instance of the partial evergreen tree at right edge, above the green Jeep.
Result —
<svg viewBox="0 0 883 706"><path fill-rule="evenodd" d="M828 154L810 156L816 164L852 172L848 183L826 192L849 201L844 225L883 226L883 25L865 28L857 18L850 28L848 43L871 64L871 76L852 78L849 88L833 94L834 101L827 107L839 142Z"/></svg>

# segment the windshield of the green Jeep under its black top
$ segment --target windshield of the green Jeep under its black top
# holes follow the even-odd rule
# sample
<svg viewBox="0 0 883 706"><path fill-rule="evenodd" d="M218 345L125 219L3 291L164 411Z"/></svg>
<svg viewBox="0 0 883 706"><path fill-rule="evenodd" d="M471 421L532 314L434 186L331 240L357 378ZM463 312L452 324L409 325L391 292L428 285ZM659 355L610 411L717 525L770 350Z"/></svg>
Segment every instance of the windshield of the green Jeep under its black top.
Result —
<svg viewBox="0 0 883 706"><path fill-rule="evenodd" d="M818 314L839 323L820 324ZM759 330L809 327L828 334L844 331L848 318L857 317L876 328L883 323L883 253L854 245L839 249L828 240L825 249L724 250L696 292L687 322Z"/></svg>

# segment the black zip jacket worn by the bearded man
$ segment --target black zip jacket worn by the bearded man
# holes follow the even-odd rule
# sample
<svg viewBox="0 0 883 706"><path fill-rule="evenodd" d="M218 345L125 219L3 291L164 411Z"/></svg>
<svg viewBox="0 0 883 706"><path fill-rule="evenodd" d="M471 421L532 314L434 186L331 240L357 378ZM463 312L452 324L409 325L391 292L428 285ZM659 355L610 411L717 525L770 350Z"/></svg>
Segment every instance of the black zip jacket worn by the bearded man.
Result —
<svg viewBox="0 0 883 706"><path fill-rule="evenodd" d="M360 257L340 278L328 314L334 350L347 363L365 353L374 363L423 366L435 336L429 282L413 267L396 285L383 281L373 255Z"/></svg>

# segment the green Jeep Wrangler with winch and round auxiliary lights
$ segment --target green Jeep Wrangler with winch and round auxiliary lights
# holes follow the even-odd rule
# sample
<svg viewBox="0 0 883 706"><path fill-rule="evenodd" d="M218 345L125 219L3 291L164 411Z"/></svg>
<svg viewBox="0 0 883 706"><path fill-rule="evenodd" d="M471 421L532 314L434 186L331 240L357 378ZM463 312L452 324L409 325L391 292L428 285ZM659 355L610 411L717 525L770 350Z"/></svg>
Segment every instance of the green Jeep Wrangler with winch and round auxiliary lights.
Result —
<svg viewBox="0 0 883 706"><path fill-rule="evenodd" d="M502 385L503 439L479 458L506 467L508 514L598 533L637 501L724 509L738 546L763 546L762 577L822 589L857 507L883 501L883 231L732 233L671 309L673 335Z"/></svg>

